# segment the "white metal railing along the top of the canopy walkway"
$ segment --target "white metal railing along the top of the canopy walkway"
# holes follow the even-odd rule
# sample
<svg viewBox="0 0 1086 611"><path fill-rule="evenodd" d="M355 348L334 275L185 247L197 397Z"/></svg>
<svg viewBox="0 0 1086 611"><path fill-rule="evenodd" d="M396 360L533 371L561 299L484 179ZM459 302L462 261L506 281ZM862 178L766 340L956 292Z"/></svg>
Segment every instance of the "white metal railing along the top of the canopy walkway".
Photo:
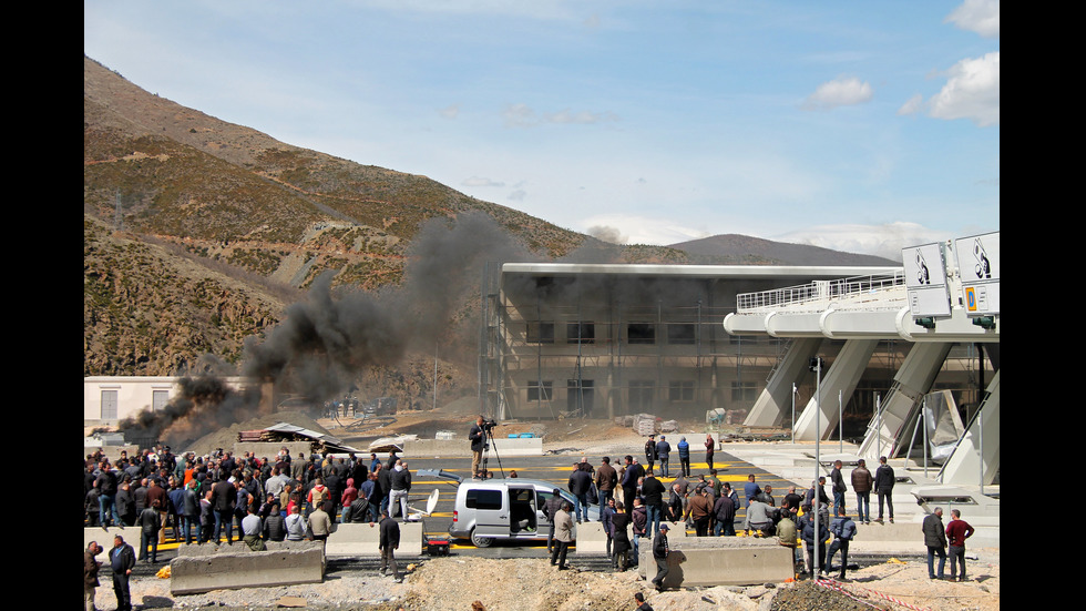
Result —
<svg viewBox="0 0 1086 611"><path fill-rule="evenodd" d="M736 310L756 310L781 306L801 306L809 304L813 309L824 307L831 301L859 299L870 296L878 297L890 288L903 287L904 272L892 275L856 276L839 281L814 281L800 286L773 288L758 293L740 293L736 296ZM892 299L894 303L903 301ZM887 307L893 307L890 303Z"/></svg>

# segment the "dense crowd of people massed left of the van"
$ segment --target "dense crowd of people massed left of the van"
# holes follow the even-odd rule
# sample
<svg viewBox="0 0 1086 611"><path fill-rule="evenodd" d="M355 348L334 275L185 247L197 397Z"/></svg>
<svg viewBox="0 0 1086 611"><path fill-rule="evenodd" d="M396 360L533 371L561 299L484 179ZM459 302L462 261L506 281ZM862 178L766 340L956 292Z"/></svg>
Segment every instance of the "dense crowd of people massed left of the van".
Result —
<svg viewBox="0 0 1086 611"><path fill-rule="evenodd" d="M155 447L109 460L88 455L83 478L84 523L135 527L137 560L155 563L157 546L172 531L184 544L328 537L331 521L377 522L382 511L407 517L411 472L389 452L334 458L283 447L274 459L216 450L175 456ZM391 507L390 507L391 506Z"/></svg>

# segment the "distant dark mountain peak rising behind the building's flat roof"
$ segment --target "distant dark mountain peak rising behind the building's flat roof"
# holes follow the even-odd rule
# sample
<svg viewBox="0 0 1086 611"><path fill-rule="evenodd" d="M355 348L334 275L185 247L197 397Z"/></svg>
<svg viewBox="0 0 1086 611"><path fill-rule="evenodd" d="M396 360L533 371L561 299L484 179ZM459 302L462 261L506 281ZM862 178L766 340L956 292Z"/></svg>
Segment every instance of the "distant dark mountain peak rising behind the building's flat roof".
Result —
<svg viewBox="0 0 1086 611"><path fill-rule="evenodd" d="M670 247L687 253L691 263L728 261L732 264L770 262L773 265L901 265L900 261L874 255L842 253L820 246L772 242L737 234L714 235L672 244Z"/></svg>

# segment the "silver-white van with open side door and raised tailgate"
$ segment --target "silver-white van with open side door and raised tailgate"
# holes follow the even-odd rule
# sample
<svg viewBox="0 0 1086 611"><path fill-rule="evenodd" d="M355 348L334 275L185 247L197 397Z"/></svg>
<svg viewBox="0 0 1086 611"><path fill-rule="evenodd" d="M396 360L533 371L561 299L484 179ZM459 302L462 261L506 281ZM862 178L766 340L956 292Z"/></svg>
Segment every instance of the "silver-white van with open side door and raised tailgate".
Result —
<svg viewBox="0 0 1086 611"><path fill-rule="evenodd" d="M543 506L555 488L571 505L576 502L562 486L541 479L463 479L455 473L433 470L419 471L419 475L460 482L449 536L471 539L478 548L489 547L495 539L545 540L551 522L543 515ZM590 506L587 512L588 520L600 520L598 507Z"/></svg>

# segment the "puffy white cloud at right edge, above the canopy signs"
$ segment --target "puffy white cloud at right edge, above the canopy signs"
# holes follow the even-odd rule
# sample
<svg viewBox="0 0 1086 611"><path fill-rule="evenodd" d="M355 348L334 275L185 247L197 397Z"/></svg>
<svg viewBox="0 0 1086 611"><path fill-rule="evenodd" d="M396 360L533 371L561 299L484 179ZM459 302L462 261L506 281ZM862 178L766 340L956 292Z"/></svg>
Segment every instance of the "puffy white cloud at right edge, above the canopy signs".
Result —
<svg viewBox="0 0 1086 611"><path fill-rule="evenodd" d="M946 71L946 84L929 102L936 119L970 119L977 125L1000 124L1000 52L964 59Z"/></svg>

